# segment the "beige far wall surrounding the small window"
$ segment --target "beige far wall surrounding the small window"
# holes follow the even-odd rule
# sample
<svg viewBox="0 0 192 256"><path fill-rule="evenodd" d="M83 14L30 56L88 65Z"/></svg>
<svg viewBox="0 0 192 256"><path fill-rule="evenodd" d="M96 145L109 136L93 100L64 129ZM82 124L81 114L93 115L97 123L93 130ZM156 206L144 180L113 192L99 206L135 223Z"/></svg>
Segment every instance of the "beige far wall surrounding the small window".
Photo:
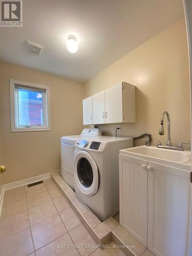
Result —
<svg viewBox="0 0 192 256"><path fill-rule="evenodd" d="M50 87L51 131L10 132L9 79ZM3 183L60 169L60 137L82 130L83 85L68 79L0 62Z"/></svg>

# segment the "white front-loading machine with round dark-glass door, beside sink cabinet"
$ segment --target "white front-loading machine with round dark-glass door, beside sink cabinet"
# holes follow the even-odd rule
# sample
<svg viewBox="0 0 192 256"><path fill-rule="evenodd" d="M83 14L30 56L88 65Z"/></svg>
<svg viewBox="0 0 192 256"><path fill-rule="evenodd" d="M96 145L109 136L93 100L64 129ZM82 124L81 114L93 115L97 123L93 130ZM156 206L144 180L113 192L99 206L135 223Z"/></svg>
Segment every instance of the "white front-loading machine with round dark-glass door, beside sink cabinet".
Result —
<svg viewBox="0 0 192 256"><path fill-rule="evenodd" d="M133 138L99 136L75 144L75 193L101 220L119 211L119 150Z"/></svg>

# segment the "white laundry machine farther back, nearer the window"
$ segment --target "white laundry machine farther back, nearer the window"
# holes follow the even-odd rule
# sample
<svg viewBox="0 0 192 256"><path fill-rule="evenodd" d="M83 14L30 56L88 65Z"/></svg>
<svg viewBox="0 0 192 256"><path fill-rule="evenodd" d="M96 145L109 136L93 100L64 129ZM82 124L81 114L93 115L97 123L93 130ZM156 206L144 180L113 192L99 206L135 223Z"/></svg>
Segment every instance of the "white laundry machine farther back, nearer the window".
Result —
<svg viewBox="0 0 192 256"><path fill-rule="evenodd" d="M63 136L61 138L61 176L71 188L74 185L74 146L75 142L84 138L95 138L101 135L98 128L83 129L80 135Z"/></svg>

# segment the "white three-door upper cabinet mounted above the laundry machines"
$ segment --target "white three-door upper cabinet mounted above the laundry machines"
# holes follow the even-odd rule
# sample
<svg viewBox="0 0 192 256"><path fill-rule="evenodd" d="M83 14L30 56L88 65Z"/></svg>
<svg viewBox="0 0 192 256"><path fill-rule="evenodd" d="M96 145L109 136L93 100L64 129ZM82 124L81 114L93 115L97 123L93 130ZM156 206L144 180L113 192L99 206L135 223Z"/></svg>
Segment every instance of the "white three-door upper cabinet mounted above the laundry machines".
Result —
<svg viewBox="0 0 192 256"><path fill-rule="evenodd" d="M84 116L89 116L90 113L87 104L83 104L83 124L136 122L135 86L132 84L120 82L116 86L93 95L92 100L93 122L84 121Z"/></svg>

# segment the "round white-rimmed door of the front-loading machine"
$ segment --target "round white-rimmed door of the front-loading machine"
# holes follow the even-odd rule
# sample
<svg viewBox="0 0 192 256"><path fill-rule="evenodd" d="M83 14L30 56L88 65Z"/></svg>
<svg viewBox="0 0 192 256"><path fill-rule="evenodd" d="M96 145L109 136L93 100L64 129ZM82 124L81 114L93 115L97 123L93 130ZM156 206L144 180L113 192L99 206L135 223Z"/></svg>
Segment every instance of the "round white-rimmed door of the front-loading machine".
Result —
<svg viewBox="0 0 192 256"><path fill-rule="evenodd" d="M95 160L87 151L79 151L74 161L75 185L88 197L97 193L99 173Z"/></svg>

